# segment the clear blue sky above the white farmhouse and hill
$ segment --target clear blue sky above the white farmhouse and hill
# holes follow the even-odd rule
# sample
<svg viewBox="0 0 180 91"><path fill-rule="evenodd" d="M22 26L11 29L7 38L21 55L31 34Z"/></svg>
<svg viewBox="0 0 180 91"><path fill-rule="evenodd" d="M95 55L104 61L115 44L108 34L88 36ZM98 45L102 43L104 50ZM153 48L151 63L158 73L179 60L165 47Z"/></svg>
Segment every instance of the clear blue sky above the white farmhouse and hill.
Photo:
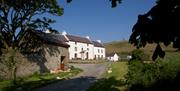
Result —
<svg viewBox="0 0 180 91"><path fill-rule="evenodd" d="M58 0L64 8L62 16L51 16L56 20L52 27L71 35L89 36L103 43L128 40L139 14L145 14L155 5L155 0L122 0L111 8L109 0Z"/></svg>

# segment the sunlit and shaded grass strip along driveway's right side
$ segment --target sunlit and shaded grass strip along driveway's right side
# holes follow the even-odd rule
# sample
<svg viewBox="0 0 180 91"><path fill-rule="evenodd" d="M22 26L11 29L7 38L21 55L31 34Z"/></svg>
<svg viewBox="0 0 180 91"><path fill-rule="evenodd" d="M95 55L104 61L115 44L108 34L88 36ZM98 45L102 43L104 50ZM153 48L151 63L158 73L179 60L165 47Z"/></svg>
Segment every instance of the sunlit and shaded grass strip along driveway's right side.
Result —
<svg viewBox="0 0 180 91"><path fill-rule="evenodd" d="M122 91L125 90L125 78L128 71L127 62L111 62L108 66L111 73L105 73L104 78L100 79L87 91Z"/></svg>

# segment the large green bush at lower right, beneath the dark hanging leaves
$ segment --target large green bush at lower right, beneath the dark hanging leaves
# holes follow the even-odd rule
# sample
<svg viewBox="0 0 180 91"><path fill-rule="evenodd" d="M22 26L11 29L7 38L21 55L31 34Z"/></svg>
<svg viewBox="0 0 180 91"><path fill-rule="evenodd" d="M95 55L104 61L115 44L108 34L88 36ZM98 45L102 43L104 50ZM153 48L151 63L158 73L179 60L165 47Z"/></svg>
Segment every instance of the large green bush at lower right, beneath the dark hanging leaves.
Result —
<svg viewBox="0 0 180 91"><path fill-rule="evenodd" d="M180 89L179 58L158 60L154 63L143 63L139 60L129 62L126 75L130 91L171 91Z"/></svg>

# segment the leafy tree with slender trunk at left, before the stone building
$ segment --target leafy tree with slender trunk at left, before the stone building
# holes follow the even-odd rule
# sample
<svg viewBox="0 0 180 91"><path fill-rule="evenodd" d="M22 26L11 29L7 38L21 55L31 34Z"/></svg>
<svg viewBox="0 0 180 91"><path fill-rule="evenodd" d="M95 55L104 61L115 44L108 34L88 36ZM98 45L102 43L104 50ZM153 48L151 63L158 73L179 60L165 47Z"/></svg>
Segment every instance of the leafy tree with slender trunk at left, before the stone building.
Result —
<svg viewBox="0 0 180 91"><path fill-rule="evenodd" d="M49 24L55 22L42 14L61 16L63 8L57 0L0 0L0 54L5 49L11 53L12 78L16 80L17 51L32 48L34 38L30 35L32 30L44 30Z"/></svg>

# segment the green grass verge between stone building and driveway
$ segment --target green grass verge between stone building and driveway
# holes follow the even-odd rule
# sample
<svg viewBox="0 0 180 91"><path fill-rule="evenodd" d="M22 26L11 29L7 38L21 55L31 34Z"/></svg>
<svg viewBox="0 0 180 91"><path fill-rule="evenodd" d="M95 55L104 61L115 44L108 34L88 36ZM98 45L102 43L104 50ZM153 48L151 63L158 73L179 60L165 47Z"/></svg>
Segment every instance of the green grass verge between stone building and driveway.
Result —
<svg viewBox="0 0 180 91"><path fill-rule="evenodd" d="M12 85L11 81L1 81L0 91L18 91L18 89L21 89L23 91L29 91L37 87L67 79L71 76L77 75L81 71L81 69L72 68L70 72L60 72L58 74L35 74L30 77L18 78L18 85L16 86ZM56 77L59 77L61 79L56 79Z"/></svg>

